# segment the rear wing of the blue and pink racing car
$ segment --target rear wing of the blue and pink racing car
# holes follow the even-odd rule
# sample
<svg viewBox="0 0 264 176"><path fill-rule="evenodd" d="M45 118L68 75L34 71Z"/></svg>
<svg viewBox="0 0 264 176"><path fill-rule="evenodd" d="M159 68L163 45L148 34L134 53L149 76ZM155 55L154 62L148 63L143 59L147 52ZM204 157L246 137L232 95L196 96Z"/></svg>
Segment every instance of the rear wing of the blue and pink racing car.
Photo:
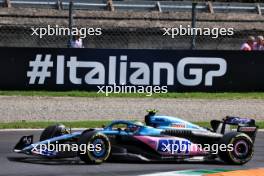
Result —
<svg viewBox="0 0 264 176"><path fill-rule="evenodd" d="M211 126L216 132L220 130L221 134L225 134L227 125L237 126L236 131L247 134L252 141L255 141L258 126L254 119L227 116L222 121L212 120Z"/></svg>

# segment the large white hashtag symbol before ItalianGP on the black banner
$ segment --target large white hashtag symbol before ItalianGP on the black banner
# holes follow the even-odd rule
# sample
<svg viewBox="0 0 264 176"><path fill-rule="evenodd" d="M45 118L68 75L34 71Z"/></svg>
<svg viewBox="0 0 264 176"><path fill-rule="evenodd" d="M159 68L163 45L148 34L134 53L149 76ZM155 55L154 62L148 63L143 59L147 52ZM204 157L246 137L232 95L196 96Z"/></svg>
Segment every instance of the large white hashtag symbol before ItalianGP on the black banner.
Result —
<svg viewBox="0 0 264 176"><path fill-rule="evenodd" d="M45 55L43 61L41 61L42 55L38 54L34 61L29 62L29 66L32 68L31 71L27 72L29 77L29 84L35 84L36 79L39 78L38 84L44 84L45 79L51 76L51 72L48 68L53 67L53 61L50 61L51 55Z"/></svg>

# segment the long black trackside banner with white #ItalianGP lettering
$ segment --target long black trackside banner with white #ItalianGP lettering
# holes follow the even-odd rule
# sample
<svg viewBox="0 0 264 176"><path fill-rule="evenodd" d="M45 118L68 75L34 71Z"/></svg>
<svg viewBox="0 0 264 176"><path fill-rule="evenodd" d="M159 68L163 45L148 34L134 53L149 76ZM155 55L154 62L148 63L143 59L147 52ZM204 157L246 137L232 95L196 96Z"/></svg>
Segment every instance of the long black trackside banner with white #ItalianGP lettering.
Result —
<svg viewBox="0 0 264 176"><path fill-rule="evenodd" d="M170 92L263 91L264 52L0 48L1 90L167 86Z"/></svg>

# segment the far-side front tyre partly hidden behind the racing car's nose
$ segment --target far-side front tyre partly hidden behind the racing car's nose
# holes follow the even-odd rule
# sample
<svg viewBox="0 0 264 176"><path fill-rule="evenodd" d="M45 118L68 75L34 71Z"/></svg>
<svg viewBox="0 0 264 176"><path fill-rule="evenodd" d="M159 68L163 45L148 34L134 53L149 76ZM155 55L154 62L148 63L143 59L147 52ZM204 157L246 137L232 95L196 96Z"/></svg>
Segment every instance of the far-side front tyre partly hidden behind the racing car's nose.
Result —
<svg viewBox="0 0 264 176"><path fill-rule="evenodd" d="M56 136L63 135L65 133L68 133L65 126L62 124L56 124L56 125L51 125L48 126L43 130L43 132L40 135L40 141L44 141Z"/></svg>

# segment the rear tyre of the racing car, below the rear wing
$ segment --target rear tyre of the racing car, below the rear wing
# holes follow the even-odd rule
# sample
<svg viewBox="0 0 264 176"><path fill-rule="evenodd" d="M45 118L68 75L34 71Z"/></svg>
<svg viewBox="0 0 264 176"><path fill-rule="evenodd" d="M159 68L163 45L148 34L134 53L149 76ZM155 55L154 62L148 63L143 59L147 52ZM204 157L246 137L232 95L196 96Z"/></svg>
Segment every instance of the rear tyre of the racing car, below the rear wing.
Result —
<svg viewBox="0 0 264 176"><path fill-rule="evenodd" d="M223 136L219 144L226 146L232 144L233 150L219 151L219 157L224 162L234 165L242 165L251 160L254 153L254 145L251 138L239 132L230 132Z"/></svg>

